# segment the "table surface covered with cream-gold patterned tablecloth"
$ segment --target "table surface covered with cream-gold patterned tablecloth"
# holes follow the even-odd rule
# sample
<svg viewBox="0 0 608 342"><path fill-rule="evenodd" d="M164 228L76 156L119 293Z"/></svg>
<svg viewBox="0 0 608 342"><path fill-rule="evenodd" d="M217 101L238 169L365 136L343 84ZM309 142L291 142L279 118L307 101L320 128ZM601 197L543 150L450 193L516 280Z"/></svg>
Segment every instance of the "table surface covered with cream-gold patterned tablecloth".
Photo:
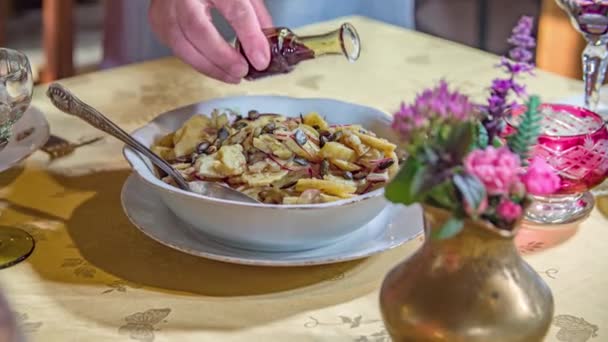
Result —
<svg viewBox="0 0 608 342"><path fill-rule="evenodd" d="M393 112L441 78L481 99L497 76L497 56L360 17L299 32L322 32L344 20L363 42L354 64L324 58L289 75L234 86L169 58L62 83L133 130L166 110L225 95L329 97ZM540 71L527 83L545 101L582 91L581 82ZM71 141L100 135L52 108L44 92L36 88L33 104L53 133ZM0 271L0 287L29 340L388 341L379 285L420 240L365 260L309 268L246 267L182 254L142 235L123 214L119 194L130 171L121 148L106 137L53 162L37 152L0 175L0 226L24 228L37 241L27 261ZM521 242L555 297L548 341L599 341L608 334L606 223L596 210L561 244L545 249L555 241L538 235Z"/></svg>

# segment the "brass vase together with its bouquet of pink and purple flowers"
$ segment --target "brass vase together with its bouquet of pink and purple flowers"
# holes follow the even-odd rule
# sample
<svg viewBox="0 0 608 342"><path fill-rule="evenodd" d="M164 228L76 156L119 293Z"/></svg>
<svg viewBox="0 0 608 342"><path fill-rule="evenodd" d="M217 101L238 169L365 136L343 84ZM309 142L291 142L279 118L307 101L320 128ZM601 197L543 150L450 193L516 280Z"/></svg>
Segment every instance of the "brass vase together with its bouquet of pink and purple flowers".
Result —
<svg viewBox="0 0 608 342"><path fill-rule="evenodd" d="M403 104L393 127L407 152L386 187L395 203L422 204L428 232L423 246L386 276L382 317L394 341L541 341L553 317L553 297L521 258L513 239L531 202L559 178L530 158L541 114L519 75L532 73L532 19L509 40L486 104L441 81ZM511 108L525 101L514 134L505 136Z"/></svg>

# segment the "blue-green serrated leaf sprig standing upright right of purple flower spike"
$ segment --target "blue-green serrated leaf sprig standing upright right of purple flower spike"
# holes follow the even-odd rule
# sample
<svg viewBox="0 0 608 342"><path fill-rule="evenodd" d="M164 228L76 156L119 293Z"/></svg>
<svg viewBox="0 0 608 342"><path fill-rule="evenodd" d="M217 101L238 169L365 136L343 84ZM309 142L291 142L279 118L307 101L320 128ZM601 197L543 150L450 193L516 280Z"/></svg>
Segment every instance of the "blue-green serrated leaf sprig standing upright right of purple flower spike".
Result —
<svg viewBox="0 0 608 342"><path fill-rule="evenodd" d="M522 114L522 119L517 126L517 132L507 140L509 148L519 155L522 163L528 159L530 148L538 142L541 121L539 105L540 98L536 95L530 96L527 110Z"/></svg>

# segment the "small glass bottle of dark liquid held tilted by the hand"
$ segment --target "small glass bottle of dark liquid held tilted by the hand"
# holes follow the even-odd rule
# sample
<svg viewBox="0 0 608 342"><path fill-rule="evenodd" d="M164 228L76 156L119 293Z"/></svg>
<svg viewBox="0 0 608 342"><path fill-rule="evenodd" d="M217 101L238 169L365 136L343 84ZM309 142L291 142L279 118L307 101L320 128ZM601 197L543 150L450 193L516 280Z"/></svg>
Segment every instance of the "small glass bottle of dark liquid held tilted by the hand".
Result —
<svg viewBox="0 0 608 342"><path fill-rule="evenodd" d="M313 36L298 36L286 27L264 29L264 33L270 43L270 64L266 70L258 71L249 63L249 73L245 76L248 80L288 73L301 61L320 56L343 55L354 62L361 53L357 30L349 23ZM236 48L247 58L238 40Z"/></svg>

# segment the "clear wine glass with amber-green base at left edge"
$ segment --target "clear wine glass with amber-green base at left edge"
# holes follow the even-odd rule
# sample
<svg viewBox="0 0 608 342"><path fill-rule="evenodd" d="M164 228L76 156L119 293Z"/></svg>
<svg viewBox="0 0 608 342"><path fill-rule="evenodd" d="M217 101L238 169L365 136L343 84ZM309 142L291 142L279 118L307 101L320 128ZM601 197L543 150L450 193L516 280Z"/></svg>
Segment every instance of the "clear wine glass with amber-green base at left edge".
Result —
<svg viewBox="0 0 608 342"><path fill-rule="evenodd" d="M0 48L0 153L8 144L12 128L32 101L32 69L27 57ZM0 268L14 265L34 250L34 239L25 231L0 227Z"/></svg>

